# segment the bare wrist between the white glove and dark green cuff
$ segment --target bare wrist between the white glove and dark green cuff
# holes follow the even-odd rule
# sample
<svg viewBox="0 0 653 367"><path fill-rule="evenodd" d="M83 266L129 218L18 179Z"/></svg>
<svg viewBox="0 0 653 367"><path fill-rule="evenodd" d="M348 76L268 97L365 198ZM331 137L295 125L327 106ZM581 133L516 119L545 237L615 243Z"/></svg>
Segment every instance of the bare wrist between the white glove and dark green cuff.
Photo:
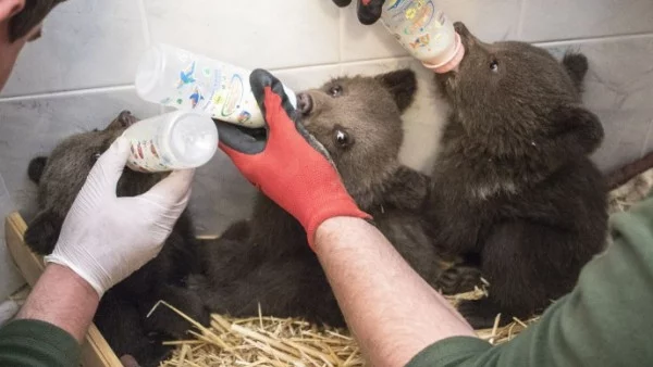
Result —
<svg viewBox="0 0 653 367"><path fill-rule="evenodd" d="M52 324L82 342L98 303L88 282L65 266L49 264L16 318Z"/></svg>

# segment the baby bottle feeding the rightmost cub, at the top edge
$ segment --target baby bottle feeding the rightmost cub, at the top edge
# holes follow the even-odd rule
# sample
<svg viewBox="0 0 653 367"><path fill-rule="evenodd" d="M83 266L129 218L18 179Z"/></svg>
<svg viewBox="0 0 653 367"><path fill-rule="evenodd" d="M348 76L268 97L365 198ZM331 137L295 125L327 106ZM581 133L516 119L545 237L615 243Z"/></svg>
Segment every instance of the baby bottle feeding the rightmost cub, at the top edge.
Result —
<svg viewBox="0 0 653 367"><path fill-rule="evenodd" d="M381 22L402 46L435 73L455 69L465 48L454 25L432 0L390 0Z"/></svg>

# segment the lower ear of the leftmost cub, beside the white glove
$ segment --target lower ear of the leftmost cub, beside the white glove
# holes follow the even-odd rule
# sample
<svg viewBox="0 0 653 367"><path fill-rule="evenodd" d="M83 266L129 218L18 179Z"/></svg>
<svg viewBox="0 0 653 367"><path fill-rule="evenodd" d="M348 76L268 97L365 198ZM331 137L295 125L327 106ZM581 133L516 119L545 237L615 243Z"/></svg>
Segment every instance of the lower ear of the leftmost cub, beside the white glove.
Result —
<svg viewBox="0 0 653 367"><path fill-rule="evenodd" d="M25 232L25 243L39 255L49 255L57 244L63 217L51 210L45 210L36 215Z"/></svg>

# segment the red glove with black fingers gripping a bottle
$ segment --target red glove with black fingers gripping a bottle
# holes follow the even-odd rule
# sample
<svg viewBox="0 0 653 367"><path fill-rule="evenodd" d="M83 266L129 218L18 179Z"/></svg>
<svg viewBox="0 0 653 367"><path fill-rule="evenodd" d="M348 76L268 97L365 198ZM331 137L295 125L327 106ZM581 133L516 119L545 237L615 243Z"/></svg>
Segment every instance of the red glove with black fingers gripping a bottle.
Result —
<svg viewBox="0 0 653 367"><path fill-rule="evenodd" d="M326 150L291 117L298 114L281 81L262 69L254 71L249 81L266 130L257 137L256 130L218 122L220 149L243 175L299 220L311 248L322 222L336 216L370 218L347 193Z"/></svg>

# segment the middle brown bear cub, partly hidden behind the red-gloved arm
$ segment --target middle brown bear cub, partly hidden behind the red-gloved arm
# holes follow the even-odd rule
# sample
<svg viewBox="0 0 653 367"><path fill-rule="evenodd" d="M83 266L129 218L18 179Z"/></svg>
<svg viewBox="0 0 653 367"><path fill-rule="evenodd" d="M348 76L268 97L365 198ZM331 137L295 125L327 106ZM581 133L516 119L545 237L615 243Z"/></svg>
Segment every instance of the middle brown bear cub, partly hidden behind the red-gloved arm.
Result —
<svg viewBox="0 0 653 367"><path fill-rule="evenodd" d="M432 286L455 291L465 277L440 284L446 267L422 227L428 177L403 166L402 113L412 102L415 74L336 78L298 96L307 130L328 150L346 189L410 265ZM211 273L198 281L209 307L234 316L304 317L343 326L344 319L306 232L263 194L254 217L233 225L210 246ZM473 277L471 277L473 279Z"/></svg>

